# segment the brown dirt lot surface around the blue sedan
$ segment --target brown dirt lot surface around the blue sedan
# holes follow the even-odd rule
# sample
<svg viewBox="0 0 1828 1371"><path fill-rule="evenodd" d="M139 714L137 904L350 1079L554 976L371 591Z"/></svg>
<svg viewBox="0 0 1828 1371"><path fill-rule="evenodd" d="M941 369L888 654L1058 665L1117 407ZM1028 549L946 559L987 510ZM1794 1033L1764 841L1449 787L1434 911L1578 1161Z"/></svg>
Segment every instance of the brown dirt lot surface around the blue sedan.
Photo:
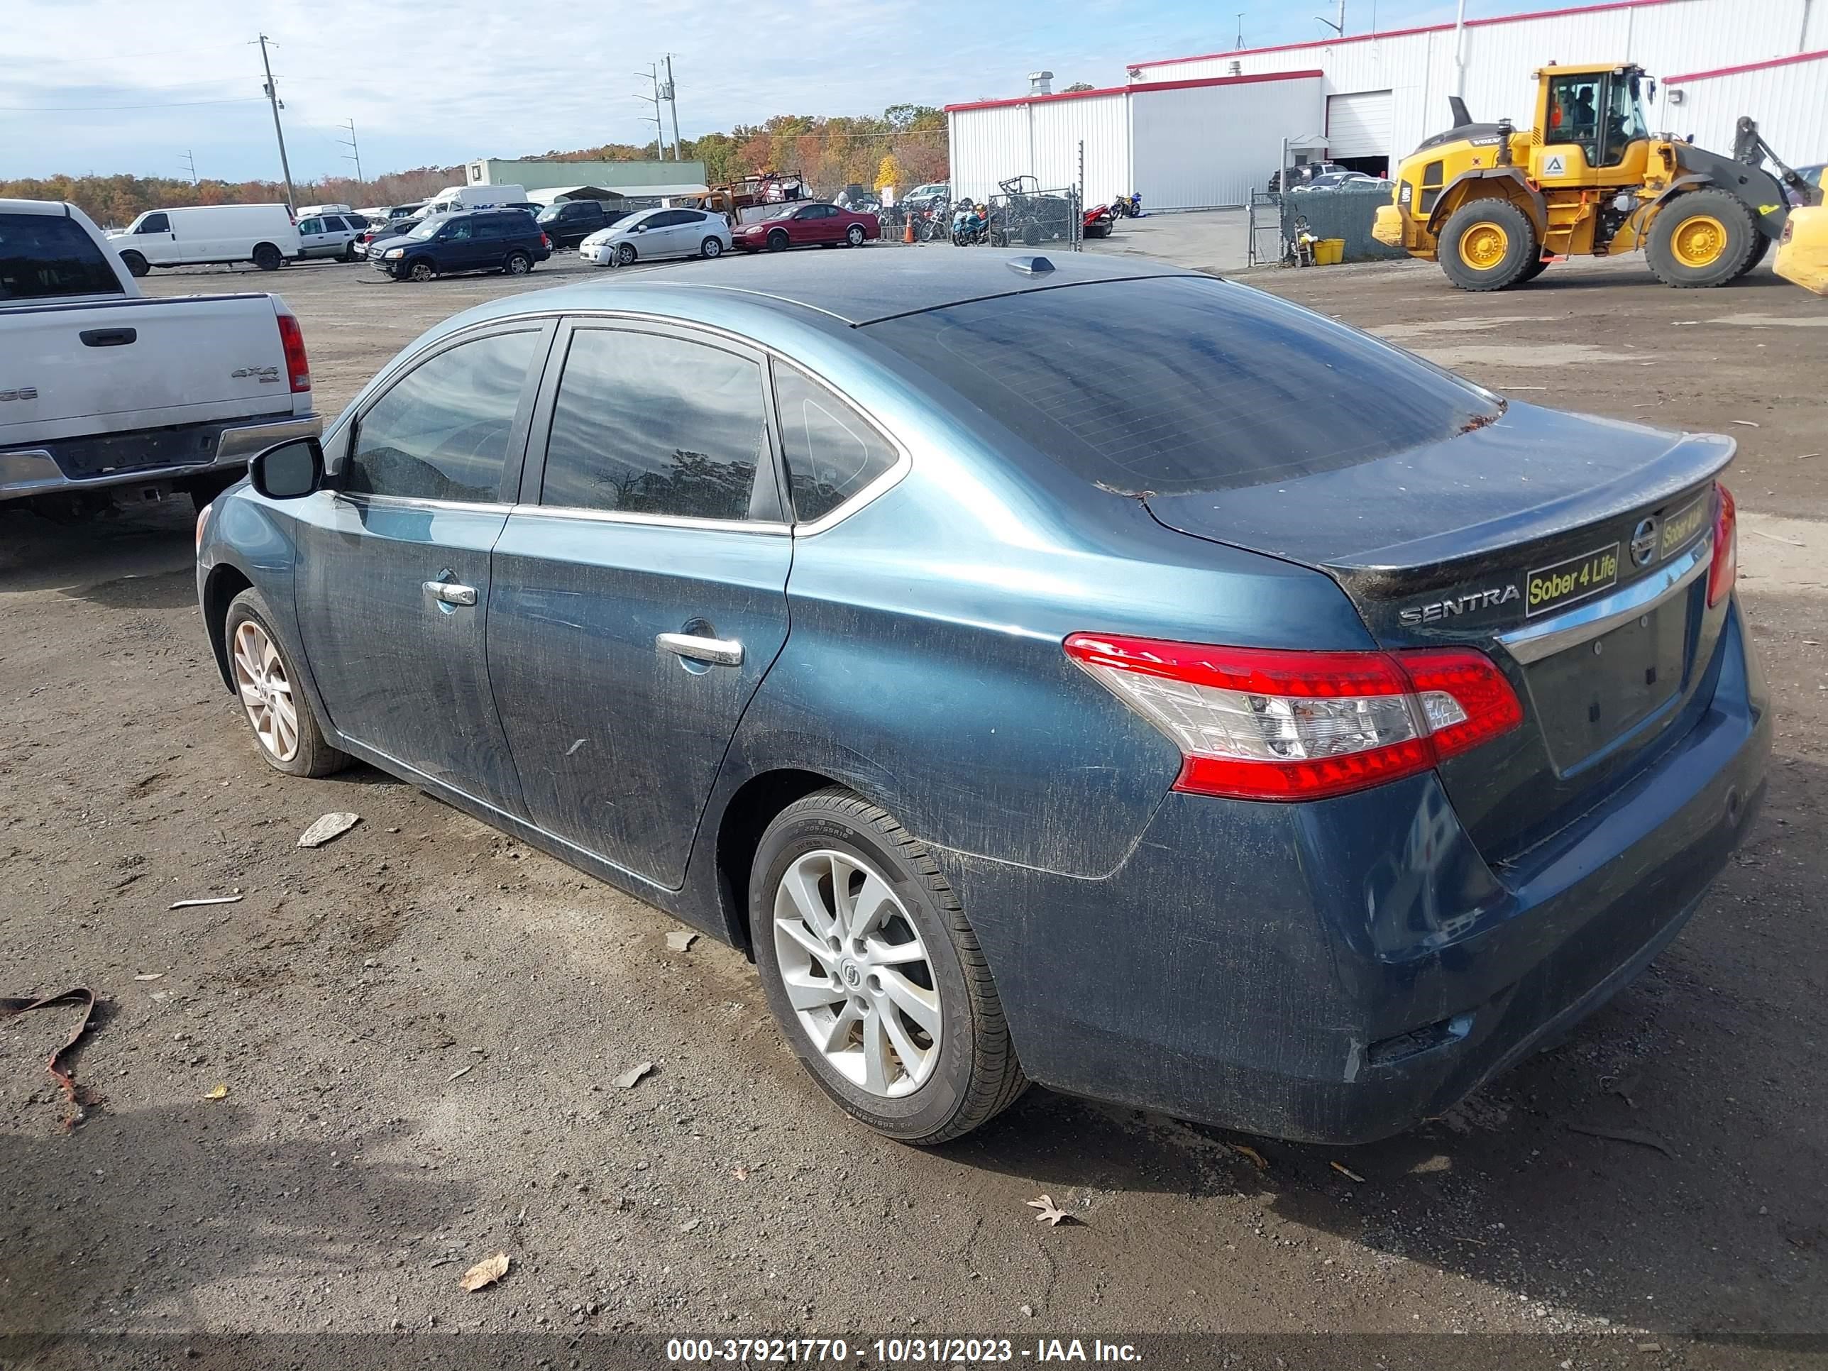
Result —
<svg viewBox="0 0 1828 1371"><path fill-rule="evenodd" d="M282 291L333 415L424 325L581 271L148 289ZM578 1336L612 1331L1018 1351L1322 1331L1512 1336L1239 1344L1236 1364L1821 1364L1823 1336L1740 1338L1828 1334L1828 302L1768 272L1667 291L1642 265L1492 296L1411 265L1249 282L1519 400L1740 442L1770 801L1610 1007L1367 1148L1040 1089L960 1144L883 1142L801 1073L739 952L671 952L665 916L380 773L269 771L208 660L186 506L0 514L0 994L104 1000L75 1132L44 1071L73 1013L0 1024L0 1334L29 1334L0 1362L58 1333L168 1334L174 1364L214 1362L210 1334L289 1334L239 1344L250 1364L331 1333L373 1334L345 1364L576 1366L605 1345ZM362 823L300 848L331 810ZM1036 1225L1040 1194L1075 1221ZM497 1250L508 1276L466 1294Z"/></svg>

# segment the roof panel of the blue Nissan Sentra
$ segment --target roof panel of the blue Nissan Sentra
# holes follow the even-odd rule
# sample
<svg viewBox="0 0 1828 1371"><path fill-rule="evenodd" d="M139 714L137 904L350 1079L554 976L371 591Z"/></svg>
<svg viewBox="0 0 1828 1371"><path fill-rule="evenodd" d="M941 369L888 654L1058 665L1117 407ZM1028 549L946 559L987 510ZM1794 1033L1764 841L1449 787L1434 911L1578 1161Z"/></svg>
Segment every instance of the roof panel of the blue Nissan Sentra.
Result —
<svg viewBox="0 0 1828 1371"><path fill-rule="evenodd" d="M1053 271L1027 274L1011 261L1046 258ZM1201 276L1164 261L1121 261L1100 254L1040 250L1004 252L996 249L903 250L876 247L846 252L770 252L757 258L686 261L649 272L629 272L623 280L563 285L532 294L505 296L494 305L472 311L470 318L501 316L526 309L618 309L618 296L642 294L643 305L671 298L680 316L698 316L717 296L728 303L762 309L795 307L859 327L901 314L991 300L996 296L1049 291L1062 285L1126 282L1152 276ZM515 302L519 302L515 305ZM631 302L632 303L632 302Z"/></svg>

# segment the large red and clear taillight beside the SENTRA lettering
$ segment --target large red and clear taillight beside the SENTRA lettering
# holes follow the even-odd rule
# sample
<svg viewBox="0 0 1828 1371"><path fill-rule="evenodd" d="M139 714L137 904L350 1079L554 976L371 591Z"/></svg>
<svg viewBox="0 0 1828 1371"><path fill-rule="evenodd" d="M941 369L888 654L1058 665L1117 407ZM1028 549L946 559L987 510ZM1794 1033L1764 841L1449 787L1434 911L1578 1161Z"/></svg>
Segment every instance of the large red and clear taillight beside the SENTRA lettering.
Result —
<svg viewBox="0 0 1828 1371"><path fill-rule="evenodd" d="M1344 795L1523 722L1510 682L1468 647L1296 653L1075 632L1066 654L1174 739L1174 788L1199 795Z"/></svg>

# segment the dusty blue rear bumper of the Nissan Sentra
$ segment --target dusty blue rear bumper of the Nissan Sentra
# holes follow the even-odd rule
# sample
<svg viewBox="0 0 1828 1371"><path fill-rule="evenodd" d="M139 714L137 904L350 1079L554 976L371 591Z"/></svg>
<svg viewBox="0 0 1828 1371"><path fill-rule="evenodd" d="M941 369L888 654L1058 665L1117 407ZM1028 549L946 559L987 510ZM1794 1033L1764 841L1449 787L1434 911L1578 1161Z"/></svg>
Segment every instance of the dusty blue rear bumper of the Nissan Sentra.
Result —
<svg viewBox="0 0 1828 1371"><path fill-rule="evenodd" d="M1311 1142L1440 1113L1629 983L1738 845L1771 717L1737 605L1718 653L1696 726L1503 876L1431 773L1300 806L1172 793L1093 881L940 854L1024 1069Z"/></svg>

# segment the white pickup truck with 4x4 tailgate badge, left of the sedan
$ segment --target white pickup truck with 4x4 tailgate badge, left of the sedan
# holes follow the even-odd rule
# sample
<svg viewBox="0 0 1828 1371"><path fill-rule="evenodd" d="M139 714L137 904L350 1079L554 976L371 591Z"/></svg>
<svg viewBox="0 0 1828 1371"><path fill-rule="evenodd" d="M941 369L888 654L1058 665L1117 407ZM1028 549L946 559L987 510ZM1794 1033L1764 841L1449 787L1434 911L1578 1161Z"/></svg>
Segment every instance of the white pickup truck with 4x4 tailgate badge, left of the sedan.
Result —
<svg viewBox="0 0 1828 1371"><path fill-rule="evenodd" d="M75 205L0 199L0 512L201 510L256 452L320 430L283 300L143 298Z"/></svg>

